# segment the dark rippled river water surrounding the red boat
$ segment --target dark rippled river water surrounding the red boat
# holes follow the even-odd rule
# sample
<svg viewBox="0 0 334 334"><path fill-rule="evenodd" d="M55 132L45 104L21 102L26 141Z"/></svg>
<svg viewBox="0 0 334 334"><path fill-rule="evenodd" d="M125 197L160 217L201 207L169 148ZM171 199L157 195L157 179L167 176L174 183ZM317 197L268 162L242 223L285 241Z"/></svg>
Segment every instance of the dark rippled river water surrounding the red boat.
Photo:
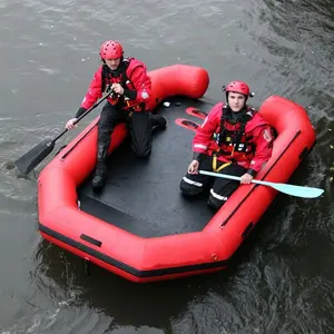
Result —
<svg viewBox="0 0 334 334"><path fill-rule="evenodd" d="M334 7L332 0L0 1L0 333L334 333ZM137 285L37 230L36 178L13 160L75 115L106 39L148 69L205 67L207 96L249 82L304 106L317 144L226 272ZM68 134L68 143L90 118Z"/></svg>

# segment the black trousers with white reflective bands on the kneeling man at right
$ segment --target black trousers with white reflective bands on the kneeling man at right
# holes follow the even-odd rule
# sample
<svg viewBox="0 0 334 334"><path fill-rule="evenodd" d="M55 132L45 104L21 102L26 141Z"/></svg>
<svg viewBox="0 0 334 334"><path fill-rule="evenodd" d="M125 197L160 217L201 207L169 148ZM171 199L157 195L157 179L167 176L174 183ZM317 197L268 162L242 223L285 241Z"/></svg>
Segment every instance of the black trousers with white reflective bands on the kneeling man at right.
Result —
<svg viewBox="0 0 334 334"><path fill-rule="evenodd" d="M213 168L213 157L204 156L199 163L199 169L217 171L219 174L228 174L235 176L244 175L247 169L237 164L230 164L218 170L224 165L222 161L217 161L217 169ZM208 205L214 209L219 209L228 199L228 197L240 185L237 180L230 180L227 178L213 177L203 174L186 174L180 181L180 189L186 196L196 196L202 194L205 189L210 188Z"/></svg>

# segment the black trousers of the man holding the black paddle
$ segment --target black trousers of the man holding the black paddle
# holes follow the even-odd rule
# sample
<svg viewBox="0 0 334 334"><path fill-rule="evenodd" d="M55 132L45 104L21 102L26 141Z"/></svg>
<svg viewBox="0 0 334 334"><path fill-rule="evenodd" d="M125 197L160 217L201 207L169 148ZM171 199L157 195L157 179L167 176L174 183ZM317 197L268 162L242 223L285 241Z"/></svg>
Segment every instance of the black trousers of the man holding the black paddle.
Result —
<svg viewBox="0 0 334 334"><path fill-rule="evenodd" d="M129 130L131 149L139 158L145 158L151 151L151 134L154 128L165 128L166 120L159 115L151 115L148 111L134 111L120 109L107 102L98 122L98 156L97 173L105 169L110 136L119 122L126 122ZM101 170L102 171L102 170Z"/></svg>

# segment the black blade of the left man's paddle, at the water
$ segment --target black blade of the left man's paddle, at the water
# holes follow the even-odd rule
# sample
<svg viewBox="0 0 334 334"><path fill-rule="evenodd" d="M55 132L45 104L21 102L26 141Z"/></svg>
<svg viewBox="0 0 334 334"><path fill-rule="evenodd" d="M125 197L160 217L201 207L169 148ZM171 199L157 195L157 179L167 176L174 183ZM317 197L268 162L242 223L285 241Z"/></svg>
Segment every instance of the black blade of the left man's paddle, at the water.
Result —
<svg viewBox="0 0 334 334"><path fill-rule="evenodd" d="M23 173L29 174L42 159L53 149L55 140L45 139L27 151L21 158L14 161L16 166Z"/></svg>

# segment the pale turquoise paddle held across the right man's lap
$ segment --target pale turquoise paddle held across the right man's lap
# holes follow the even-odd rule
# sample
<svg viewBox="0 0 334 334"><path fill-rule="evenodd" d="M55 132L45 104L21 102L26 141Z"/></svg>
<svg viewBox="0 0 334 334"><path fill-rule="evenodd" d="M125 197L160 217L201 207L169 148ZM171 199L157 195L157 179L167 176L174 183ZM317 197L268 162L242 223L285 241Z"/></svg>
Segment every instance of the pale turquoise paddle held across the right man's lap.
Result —
<svg viewBox="0 0 334 334"><path fill-rule="evenodd" d="M207 170L198 170L199 174L215 176L215 177L223 177L223 178L229 178L235 180L240 180L242 178L239 176L233 176L227 174L218 174ZM253 184L263 185L272 187L281 193L296 196L296 197L303 197L303 198L315 198L321 196L324 193L324 189L321 188L311 188L311 187L303 187L303 186L294 186L294 185L287 185L287 184L276 184L276 183L268 183L268 181L262 181L257 179L252 180Z"/></svg>

